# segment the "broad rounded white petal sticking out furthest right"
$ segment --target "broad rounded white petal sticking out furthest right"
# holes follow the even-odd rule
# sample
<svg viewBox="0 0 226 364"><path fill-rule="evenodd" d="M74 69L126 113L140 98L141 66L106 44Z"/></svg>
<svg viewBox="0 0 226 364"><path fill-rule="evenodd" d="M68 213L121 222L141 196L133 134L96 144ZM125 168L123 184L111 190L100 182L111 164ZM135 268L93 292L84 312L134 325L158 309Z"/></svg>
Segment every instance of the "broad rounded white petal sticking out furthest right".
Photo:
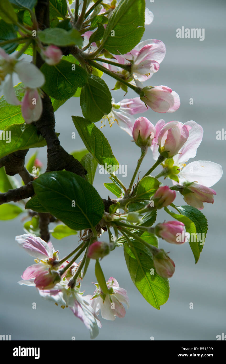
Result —
<svg viewBox="0 0 226 364"><path fill-rule="evenodd" d="M210 161L194 161L189 163L179 173L179 182L197 181L199 185L211 187L221 179L223 170L221 165Z"/></svg>

